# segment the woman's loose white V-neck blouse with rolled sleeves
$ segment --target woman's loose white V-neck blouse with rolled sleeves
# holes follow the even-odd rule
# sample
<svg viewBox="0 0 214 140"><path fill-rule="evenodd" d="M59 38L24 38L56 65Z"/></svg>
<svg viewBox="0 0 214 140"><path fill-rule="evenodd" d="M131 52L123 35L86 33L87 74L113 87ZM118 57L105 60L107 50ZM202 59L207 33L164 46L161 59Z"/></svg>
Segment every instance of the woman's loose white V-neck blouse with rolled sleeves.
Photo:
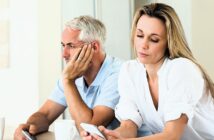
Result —
<svg viewBox="0 0 214 140"><path fill-rule="evenodd" d="M132 120L138 128L146 124L153 134L163 131L167 121L186 114L188 124L182 140L214 140L214 102L205 93L204 79L190 60L165 59L158 71L158 109L150 94L144 65L138 60L123 64L119 75L120 100L116 117Z"/></svg>

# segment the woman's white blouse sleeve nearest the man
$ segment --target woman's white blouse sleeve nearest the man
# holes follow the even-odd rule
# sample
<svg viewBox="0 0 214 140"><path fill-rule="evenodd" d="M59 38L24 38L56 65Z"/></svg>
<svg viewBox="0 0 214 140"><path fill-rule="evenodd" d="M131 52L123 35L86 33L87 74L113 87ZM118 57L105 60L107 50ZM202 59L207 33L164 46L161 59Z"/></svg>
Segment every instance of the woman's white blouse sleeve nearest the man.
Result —
<svg viewBox="0 0 214 140"><path fill-rule="evenodd" d="M119 121L131 120L138 128L143 124L143 119L137 108L135 98L136 88L131 80L131 72L128 71L129 65L125 63L120 71L118 80L118 89L120 100L115 109L116 118Z"/></svg>

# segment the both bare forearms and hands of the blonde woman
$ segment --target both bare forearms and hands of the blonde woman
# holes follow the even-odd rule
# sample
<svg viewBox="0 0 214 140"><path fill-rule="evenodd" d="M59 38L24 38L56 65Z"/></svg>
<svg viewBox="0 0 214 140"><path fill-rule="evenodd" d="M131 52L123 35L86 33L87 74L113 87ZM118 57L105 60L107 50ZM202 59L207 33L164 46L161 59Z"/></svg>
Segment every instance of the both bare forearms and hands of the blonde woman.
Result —
<svg viewBox="0 0 214 140"><path fill-rule="evenodd" d="M188 118L183 114L179 119L167 122L163 132L140 138L136 138L138 127L131 120L122 121L120 127L115 130L108 130L103 126L99 129L108 140L180 140L187 122ZM85 133L82 136L84 140L103 140L97 135L87 136Z"/></svg>

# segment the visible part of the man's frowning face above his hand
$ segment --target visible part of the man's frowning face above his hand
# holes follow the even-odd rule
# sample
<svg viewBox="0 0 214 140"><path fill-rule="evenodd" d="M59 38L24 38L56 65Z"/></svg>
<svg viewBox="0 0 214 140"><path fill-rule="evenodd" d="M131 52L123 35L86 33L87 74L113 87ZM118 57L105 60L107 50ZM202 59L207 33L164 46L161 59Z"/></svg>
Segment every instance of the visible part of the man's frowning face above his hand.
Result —
<svg viewBox="0 0 214 140"><path fill-rule="evenodd" d="M83 45L83 41L79 40L79 30L65 28L62 32L61 44L63 47L62 57L66 63L72 58L77 48Z"/></svg>

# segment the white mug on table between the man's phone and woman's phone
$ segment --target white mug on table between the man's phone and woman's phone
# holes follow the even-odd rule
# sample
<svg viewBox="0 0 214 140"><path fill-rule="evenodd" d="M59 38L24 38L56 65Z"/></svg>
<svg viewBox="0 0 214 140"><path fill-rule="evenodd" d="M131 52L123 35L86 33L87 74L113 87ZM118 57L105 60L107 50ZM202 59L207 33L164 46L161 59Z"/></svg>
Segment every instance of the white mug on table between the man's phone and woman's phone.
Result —
<svg viewBox="0 0 214 140"><path fill-rule="evenodd" d="M55 140L80 140L74 120L56 120L54 123Z"/></svg>

